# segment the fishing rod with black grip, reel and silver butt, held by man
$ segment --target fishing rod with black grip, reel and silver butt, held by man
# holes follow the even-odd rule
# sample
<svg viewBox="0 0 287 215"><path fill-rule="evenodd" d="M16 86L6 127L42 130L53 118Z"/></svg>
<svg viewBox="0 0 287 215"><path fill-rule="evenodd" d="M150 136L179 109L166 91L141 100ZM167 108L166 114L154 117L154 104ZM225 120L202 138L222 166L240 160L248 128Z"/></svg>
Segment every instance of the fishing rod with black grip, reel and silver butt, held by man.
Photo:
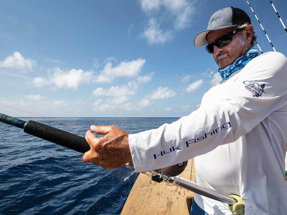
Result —
<svg viewBox="0 0 287 215"><path fill-rule="evenodd" d="M84 137L77 136L75 134L57 129L39 122L29 120L25 122L18 118L7 116L0 113L0 122L12 125L18 128L24 129L24 132L31 134L33 136L39 137L49 142L56 143L58 145L64 146L66 148L73 149L80 153L85 153L90 150L89 144L86 142ZM127 168L134 169L132 161L127 163ZM224 194L218 193L217 191L210 189L208 187L203 187L197 183L187 180L185 178L179 177L181 172L185 169L187 161L161 169L151 170L142 172L145 175L152 177L153 181L156 182L166 182L176 185L178 187L183 187L199 195L218 200L229 205L236 203L236 200L226 196Z"/></svg>

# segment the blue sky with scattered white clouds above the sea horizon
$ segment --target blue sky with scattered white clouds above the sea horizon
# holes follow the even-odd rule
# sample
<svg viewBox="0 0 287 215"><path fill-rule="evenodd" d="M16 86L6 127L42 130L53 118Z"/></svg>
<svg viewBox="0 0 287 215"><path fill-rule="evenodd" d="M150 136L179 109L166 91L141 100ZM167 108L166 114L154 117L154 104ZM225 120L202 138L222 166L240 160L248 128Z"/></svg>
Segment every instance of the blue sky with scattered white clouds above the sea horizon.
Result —
<svg viewBox="0 0 287 215"><path fill-rule="evenodd" d="M286 56L269 0L250 3ZM287 1L273 3L286 25ZM217 73L193 40L229 6L249 15L263 52L273 51L245 0L1 1L0 104L47 117L186 116L220 77L179 74Z"/></svg>

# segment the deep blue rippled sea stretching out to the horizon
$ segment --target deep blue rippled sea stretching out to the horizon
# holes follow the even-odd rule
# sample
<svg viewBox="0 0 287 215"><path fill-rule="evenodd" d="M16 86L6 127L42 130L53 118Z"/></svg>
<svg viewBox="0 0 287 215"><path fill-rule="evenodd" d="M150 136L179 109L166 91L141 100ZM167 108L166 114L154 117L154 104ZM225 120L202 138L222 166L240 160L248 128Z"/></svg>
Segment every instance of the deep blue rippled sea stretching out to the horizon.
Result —
<svg viewBox="0 0 287 215"><path fill-rule="evenodd" d="M34 120L79 136L86 130ZM115 125L133 134L179 118L55 118L85 128ZM139 173L105 170L82 154L0 122L0 214L120 214Z"/></svg>

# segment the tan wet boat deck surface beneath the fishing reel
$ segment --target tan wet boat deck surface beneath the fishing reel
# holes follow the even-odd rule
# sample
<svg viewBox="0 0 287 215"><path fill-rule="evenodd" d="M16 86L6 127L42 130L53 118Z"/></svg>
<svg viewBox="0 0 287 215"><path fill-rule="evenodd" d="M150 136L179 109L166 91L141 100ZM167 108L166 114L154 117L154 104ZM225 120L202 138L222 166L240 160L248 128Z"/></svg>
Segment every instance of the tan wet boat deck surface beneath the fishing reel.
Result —
<svg viewBox="0 0 287 215"><path fill-rule="evenodd" d="M179 175L188 180L195 180L193 159ZM139 174L121 215L137 214L190 214L194 193L167 183L157 183L144 174Z"/></svg>

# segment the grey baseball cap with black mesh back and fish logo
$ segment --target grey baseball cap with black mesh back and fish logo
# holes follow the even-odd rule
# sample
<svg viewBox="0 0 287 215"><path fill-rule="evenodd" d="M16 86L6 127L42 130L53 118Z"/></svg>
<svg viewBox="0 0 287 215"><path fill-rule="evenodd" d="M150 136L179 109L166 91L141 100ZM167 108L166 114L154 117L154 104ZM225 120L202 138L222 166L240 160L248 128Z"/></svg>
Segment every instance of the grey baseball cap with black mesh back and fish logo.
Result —
<svg viewBox="0 0 287 215"><path fill-rule="evenodd" d="M207 30L198 33L194 38L196 47L208 44L206 35L211 31L236 27L245 23L251 24L249 16L241 9L226 7L216 11L210 18Z"/></svg>

